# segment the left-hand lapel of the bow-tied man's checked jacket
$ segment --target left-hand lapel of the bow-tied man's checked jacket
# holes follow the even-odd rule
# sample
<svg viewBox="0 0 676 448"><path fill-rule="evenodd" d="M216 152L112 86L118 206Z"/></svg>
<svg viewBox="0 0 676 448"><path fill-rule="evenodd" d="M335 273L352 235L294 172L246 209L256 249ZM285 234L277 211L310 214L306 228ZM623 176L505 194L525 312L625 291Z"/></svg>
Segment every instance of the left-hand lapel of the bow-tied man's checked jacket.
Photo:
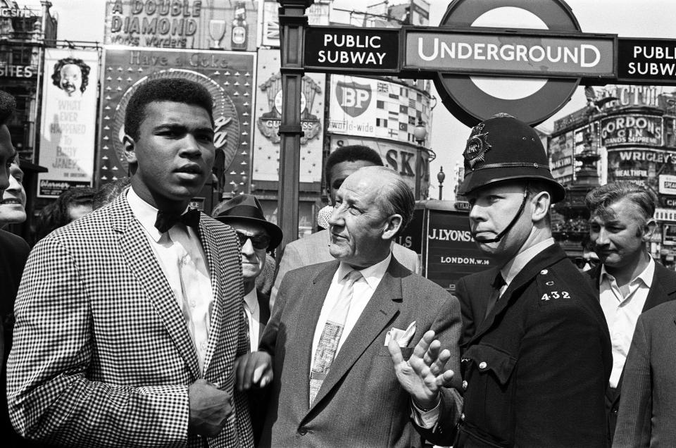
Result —
<svg viewBox="0 0 676 448"><path fill-rule="evenodd" d="M134 218L127 204L126 195L115 200L111 208L113 228L120 232L120 249L127 260L130 270L137 278L139 285L164 322L170 337L185 359L193 378L200 378L199 363L192 338L176 297L160 268L153 249L146 238L142 225ZM140 248L140 250L139 250Z"/></svg>

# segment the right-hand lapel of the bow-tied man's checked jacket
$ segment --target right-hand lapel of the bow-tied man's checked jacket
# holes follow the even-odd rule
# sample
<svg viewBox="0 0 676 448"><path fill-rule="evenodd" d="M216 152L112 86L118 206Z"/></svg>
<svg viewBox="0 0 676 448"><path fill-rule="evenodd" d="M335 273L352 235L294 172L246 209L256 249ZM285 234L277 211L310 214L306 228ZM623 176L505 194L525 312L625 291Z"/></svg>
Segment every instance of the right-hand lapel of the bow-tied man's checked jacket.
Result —
<svg viewBox="0 0 676 448"><path fill-rule="evenodd" d="M213 294L213 308L211 309L211 323L209 325L209 342L204 356L204 373L206 375L209 361L216 349L216 344L220 340L221 321L225 313L225 304L223 303L225 294L221 290L223 282L220 278L220 266L218 264L218 244L216 244L213 232L208 232L203 220L199 223L199 240L206 255L206 263L211 277L211 294Z"/></svg>

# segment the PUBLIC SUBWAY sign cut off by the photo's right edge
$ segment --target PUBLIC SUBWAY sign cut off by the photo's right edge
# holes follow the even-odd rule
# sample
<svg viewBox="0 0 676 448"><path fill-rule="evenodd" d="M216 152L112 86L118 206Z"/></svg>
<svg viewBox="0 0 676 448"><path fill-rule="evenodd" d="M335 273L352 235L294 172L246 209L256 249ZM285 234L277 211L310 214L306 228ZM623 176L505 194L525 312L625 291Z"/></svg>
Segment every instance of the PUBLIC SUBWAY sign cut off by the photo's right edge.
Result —
<svg viewBox="0 0 676 448"><path fill-rule="evenodd" d="M618 81L676 84L676 39L618 38Z"/></svg>

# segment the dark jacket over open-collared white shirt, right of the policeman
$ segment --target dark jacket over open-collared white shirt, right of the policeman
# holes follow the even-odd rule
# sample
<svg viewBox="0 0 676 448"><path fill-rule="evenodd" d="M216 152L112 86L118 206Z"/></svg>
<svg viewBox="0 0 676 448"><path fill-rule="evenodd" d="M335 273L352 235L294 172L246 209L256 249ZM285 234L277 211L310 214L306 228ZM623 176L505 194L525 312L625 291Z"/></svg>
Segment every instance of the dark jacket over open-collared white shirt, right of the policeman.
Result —
<svg viewBox="0 0 676 448"><path fill-rule="evenodd" d="M601 275L601 265L587 270L587 275L592 280L594 290L599 292L599 277ZM597 296L598 297L598 296ZM665 301L676 299L676 272L665 268L662 263L655 261L655 273L650 292L646 298L646 304L643 306L643 312L653 307L663 304ZM624 371L620 375L618 387L612 390L610 387L606 390L606 416L608 418L608 445L613 441L615 425L618 421L618 409L620 407L620 392L622 382L624 382Z"/></svg>

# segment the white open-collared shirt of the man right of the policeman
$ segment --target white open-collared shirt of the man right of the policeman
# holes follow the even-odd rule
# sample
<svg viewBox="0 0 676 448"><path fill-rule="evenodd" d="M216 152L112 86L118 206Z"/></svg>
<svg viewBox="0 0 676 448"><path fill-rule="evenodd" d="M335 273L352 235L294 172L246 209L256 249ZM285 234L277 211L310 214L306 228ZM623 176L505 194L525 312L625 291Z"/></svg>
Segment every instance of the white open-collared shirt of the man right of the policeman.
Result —
<svg viewBox="0 0 676 448"><path fill-rule="evenodd" d="M627 285L629 292L624 297L613 275L601 266L599 275L599 299L603 314L606 316L608 330L611 332L611 346L613 349L613 371L608 383L611 387L618 387L622 369L625 368L627 353L632 345L634 329L639 315L646 304L650 286L655 273L655 261L649 257L648 266Z"/></svg>

